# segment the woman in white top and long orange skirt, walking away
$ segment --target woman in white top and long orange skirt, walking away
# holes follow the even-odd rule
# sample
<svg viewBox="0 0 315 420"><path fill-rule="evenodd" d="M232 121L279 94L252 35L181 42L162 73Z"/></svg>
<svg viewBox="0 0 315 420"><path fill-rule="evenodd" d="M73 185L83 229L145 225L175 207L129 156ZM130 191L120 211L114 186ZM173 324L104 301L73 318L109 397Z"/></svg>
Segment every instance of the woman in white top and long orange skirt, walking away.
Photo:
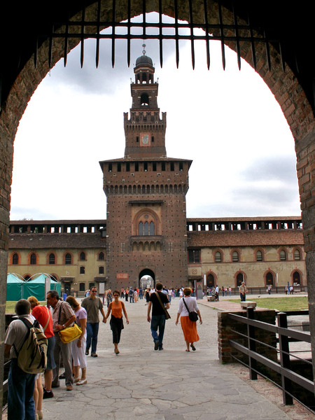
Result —
<svg viewBox="0 0 315 420"><path fill-rule="evenodd" d="M179 317L181 316L181 328L183 330L184 339L186 342L187 349L186 351L190 351L190 347L193 351L195 351L194 343L199 341L199 335L197 333L197 322L190 321L188 316L188 310L190 312L196 311L199 316L199 322L202 324L202 317L200 315L200 310L197 305L197 300L195 297L191 297L191 288L186 287L183 290L183 299L179 301L179 310L177 311L177 318L176 318L176 325L179 323ZM185 304L186 303L186 304ZM187 308L186 308L187 305Z"/></svg>

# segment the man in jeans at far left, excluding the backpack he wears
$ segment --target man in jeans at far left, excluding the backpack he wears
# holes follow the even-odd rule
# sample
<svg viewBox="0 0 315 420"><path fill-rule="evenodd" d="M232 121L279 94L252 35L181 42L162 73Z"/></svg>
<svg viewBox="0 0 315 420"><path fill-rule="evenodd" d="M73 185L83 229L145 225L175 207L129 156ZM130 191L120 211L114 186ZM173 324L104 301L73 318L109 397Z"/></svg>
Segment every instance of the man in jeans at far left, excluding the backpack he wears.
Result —
<svg viewBox="0 0 315 420"><path fill-rule="evenodd" d="M4 352L10 352L11 359L8 374L8 420L35 419L33 394L36 372L25 372L18 363L19 353L29 335L29 328L25 322L28 321L29 326L34 325L34 322L37 323L34 316L29 314L30 311L31 304L25 299L15 304L15 313L19 318L10 323L4 339Z"/></svg>

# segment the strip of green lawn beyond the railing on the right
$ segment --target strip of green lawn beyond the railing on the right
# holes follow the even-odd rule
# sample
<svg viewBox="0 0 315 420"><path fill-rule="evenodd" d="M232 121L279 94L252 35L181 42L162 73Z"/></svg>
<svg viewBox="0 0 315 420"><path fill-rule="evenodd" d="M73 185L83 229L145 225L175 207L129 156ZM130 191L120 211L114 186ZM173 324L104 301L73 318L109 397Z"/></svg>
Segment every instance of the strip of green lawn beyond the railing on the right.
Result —
<svg viewBox="0 0 315 420"><path fill-rule="evenodd" d="M241 302L240 299L229 300L230 302ZM261 299L255 297L251 299L250 295L246 295L246 300L256 302L258 307L277 309L278 311L300 311L302 309L309 309L307 296L262 297Z"/></svg>

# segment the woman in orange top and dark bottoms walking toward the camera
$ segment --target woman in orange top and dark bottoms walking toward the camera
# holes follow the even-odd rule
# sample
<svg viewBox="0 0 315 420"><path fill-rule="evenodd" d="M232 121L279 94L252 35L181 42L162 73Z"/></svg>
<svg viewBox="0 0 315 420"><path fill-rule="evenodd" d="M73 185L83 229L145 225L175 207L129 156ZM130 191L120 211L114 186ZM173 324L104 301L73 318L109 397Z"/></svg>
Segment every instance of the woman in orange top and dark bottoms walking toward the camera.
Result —
<svg viewBox="0 0 315 420"><path fill-rule="evenodd" d="M119 354L118 350L118 343L120 342L120 333L121 330L124 328L123 324L123 313L126 317L127 324L129 323L127 312L125 309L125 303L119 300L119 291L115 290L113 293L112 302L109 304L109 309L107 311L107 314L105 316L105 323L107 321L107 318L109 318L109 314L111 314L111 330L113 332L113 345L114 345L114 351L115 354Z"/></svg>

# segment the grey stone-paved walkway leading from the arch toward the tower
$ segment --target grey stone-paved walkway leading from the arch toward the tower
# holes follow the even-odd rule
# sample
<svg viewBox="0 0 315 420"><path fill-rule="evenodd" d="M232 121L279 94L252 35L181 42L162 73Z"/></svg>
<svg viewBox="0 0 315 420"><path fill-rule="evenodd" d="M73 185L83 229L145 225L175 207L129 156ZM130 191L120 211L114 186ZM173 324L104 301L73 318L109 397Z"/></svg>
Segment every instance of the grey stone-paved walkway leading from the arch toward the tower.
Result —
<svg viewBox="0 0 315 420"><path fill-rule="evenodd" d="M179 299L170 307L164 351L153 350L144 300L126 304L120 354L113 352L109 323L100 324L98 358L87 357L87 381L43 401L45 420L237 420L306 419L306 411L286 412L277 401L255 391L236 370L218 361L217 311L200 304L197 351L185 351L180 325L175 325ZM270 386L270 385L268 385ZM272 390L274 388L272 387ZM273 391L272 391L273 393ZM303 413L303 412L302 412ZM5 417L3 417L5 419Z"/></svg>

